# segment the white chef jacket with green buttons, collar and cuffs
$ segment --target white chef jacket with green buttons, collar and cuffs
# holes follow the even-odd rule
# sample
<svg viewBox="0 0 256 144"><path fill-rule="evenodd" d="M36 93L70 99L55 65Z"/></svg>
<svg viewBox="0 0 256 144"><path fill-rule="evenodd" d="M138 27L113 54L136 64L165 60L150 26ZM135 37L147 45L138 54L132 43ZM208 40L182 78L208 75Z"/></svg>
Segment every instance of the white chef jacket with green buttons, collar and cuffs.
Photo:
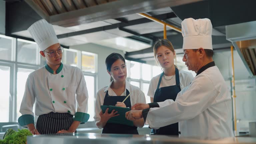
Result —
<svg viewBox="0 0 256 144"><path fill-rule="evenodd" d="M88 91L82 71L77 67L61 64L56 72L57 74L53 74L53 70L46 65L29 74L20 106L21 126L29 124L24 123L30 121L26 118L27 115L34 116L32 110L35 102L37 116L58 112L75 115L74 120L81 122L84 122L84 118L89 118Z"/></svg>

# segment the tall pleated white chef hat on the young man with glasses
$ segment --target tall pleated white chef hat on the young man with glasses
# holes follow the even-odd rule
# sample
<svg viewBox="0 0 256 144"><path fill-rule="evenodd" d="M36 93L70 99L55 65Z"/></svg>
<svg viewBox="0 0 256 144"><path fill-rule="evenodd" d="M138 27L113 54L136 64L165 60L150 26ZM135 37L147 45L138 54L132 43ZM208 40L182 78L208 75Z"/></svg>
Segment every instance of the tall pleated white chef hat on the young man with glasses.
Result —
<svg viewBox="0 0 256 144"><path fill-rule="evenodd" d="M44 51L49 46L59 43L53 26L45 19L41 19L28 28L29 33L39 46L41 51Z"/></svg>

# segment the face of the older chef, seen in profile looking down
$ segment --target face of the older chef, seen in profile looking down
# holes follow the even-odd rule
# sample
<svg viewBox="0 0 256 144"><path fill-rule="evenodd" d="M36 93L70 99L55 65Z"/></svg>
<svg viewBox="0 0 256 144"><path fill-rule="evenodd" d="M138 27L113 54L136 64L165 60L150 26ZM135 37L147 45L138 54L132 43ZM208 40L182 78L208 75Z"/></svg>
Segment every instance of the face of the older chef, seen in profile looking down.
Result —
<svg viewBox="0 0 256 144"><path fill-rule="evenodd" d="M193 51L192 49L184 50L184 56L182 60L185 62L185 65L187 65L188 70L197 72L200 65L199 53L197 51Z"/></svg>

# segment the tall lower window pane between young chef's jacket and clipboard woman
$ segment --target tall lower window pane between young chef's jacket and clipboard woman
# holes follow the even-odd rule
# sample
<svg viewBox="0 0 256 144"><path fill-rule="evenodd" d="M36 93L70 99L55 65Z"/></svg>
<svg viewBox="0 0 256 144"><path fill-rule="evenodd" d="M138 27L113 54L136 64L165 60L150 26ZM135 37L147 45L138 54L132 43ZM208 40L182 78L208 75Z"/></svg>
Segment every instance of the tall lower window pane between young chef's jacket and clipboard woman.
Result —
<svg viewBox="0 0 256 144"><path fill-rule="evenodd" d="M86 81L86 87L88 90L88 114L90 118L88 121L94 121L94 104L95 104L95 88L94 88L94 77L93 76L84 76Z"/></svg>

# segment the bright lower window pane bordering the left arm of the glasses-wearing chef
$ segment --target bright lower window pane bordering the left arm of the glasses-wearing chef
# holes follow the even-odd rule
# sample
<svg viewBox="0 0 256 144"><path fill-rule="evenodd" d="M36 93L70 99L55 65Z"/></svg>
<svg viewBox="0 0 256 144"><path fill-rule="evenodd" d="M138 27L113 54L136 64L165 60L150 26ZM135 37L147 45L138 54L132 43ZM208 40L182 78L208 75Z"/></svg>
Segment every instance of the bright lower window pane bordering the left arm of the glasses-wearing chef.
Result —
<svg viewBox="0 0 256 144"><path fill-rule="evenodd" d="M21 116L20 105L22 102L22 98L25 92L25 85L28 78L28 75L33 72L33 69L26 69L26 68L18 68L17 72L17 119Z"/></svg>

